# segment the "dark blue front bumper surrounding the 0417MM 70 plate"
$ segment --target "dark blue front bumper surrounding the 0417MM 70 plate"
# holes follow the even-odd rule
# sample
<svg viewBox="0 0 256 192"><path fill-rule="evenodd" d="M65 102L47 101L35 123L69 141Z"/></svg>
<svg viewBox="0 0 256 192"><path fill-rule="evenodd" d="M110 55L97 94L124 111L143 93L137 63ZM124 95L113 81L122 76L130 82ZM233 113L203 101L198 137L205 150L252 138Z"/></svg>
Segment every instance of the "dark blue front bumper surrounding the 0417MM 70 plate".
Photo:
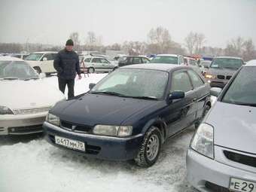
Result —
<svg viewBox="0 0 256 192"><path fill-rule="evenodd" d="M64 148L61 145L56 145L55 136L75 139L85 143L86 151L77 151L78 153L104 160L133 160L138 154L143 141L143 135L130 136L127 138L96 136L93 134L75 133L69 130L63 130L59 126L54 126L47 122L44 122L43 127L47 142L50 142L50 144Z"/></svg>

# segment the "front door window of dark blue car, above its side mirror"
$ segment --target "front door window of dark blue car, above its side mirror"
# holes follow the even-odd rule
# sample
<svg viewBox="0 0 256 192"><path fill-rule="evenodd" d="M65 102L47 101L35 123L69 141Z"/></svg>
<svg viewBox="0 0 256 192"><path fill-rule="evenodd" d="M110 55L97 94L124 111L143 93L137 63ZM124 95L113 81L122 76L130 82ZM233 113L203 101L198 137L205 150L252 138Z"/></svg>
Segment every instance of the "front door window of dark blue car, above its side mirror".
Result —
<svg viewBox="0 0 256 192"><path fill-rule="evenodd" d="M185 93L193 90L187 72L177 71L172 73L172 87L170 92L173 92L175 90L181 90Z"/></svg>

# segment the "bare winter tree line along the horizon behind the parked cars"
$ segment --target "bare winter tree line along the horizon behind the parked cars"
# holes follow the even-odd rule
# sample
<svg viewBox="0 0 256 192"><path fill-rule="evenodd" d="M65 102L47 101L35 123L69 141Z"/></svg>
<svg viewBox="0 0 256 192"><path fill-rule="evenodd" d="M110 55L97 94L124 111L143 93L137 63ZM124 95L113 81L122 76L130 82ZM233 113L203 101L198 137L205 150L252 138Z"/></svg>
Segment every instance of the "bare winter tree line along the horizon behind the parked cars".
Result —
<svg viewBox="0 0 256 192"><path fill-rule="evenodd" d="M75 50L97 50L105 53L106 50L123 50L130 55L145 55L159 53L176 53L186 55L204 56L240 56L245 61L256 59L256 50L251 38L237 37L227 41L226 47L206 46L206 36L200 32L189 32L184 38L184 43L172 41L168 29L163 26L152 28L147 35L147 41L124 41L123 44L103 45L102 36L95 32L87 32L84 42L78 32L72 32L69 38L75 43ZM45 44L15 44L0 43L0 53L20 53L21 51L33 52L43 50L60 50L61 46Z"/></svg>

